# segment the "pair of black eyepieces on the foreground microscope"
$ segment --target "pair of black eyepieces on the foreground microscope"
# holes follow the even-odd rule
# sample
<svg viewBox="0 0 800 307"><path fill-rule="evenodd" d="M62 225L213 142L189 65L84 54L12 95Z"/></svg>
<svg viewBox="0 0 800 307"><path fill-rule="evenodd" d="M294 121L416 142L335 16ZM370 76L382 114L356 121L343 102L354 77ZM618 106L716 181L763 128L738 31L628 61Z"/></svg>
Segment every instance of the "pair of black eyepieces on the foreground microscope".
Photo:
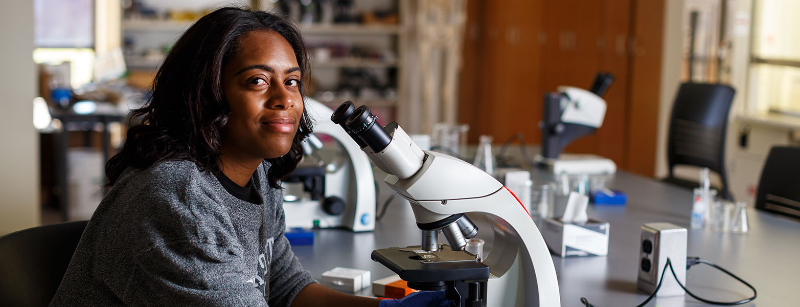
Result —
<svg viewBox="0 0 800 307"><path fill-rule="evenodd" d="M347 101L336 108L330 120L342 126L362 148L369 146L372 151L379 152L392 141L389 133L378 123L378 116L366 106L354 109L353 102Z"/></svg>

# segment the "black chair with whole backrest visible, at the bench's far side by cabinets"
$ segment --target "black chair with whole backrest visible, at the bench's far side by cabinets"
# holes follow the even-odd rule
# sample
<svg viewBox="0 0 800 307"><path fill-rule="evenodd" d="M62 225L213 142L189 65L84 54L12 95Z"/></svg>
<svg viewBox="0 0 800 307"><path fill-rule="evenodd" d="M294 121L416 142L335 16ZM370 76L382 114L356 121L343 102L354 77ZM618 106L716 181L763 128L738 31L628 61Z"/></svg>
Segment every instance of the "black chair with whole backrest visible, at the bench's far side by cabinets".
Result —
<svg viewBox="0 0 800 307"><path fill-rule="evenodd" d="M725 170L725 139L728 112L736 91L722 84L683 83L675 96L670 117L666 157L670 176L664 181L696 188L697 181L674 176L678 164L709 168L722 180L720 196L733 200Z"/></svg>

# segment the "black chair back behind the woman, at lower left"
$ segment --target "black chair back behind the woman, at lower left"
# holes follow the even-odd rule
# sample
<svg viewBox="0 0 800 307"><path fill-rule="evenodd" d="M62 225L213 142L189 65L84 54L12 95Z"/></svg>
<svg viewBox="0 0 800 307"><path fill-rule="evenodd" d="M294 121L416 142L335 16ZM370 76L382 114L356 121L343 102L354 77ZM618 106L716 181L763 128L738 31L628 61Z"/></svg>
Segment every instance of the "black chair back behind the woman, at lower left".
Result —
<svg viewBox="0 0 800 307"><path fill-rule="evenodd" d="M87 222L52 224L0 236L0 305L50 305Z"/></svg>

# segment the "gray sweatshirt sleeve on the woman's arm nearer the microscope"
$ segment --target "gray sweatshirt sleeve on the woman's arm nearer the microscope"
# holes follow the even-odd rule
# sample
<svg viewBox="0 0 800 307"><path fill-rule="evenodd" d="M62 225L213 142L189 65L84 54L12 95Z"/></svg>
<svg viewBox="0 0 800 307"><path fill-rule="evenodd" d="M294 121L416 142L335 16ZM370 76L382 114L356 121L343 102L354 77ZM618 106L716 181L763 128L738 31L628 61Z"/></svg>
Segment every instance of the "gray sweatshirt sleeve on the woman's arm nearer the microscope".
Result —
<svg viewBox="0 0 800 307"><path fill-rule="evenodd" d="M281 195L282 193L276 193ZM282 200L283 197L278 197ZM311 273L302 269L300 261L294 256L289 239L286 239L286 216L283 212L282 204L278 204L276 210L275 225L278 227L279 235L275 236L272 245L272 261L270 262L270 306L289 307L294 301L294 297L300 290L310 283L317 282Z"/></svg>

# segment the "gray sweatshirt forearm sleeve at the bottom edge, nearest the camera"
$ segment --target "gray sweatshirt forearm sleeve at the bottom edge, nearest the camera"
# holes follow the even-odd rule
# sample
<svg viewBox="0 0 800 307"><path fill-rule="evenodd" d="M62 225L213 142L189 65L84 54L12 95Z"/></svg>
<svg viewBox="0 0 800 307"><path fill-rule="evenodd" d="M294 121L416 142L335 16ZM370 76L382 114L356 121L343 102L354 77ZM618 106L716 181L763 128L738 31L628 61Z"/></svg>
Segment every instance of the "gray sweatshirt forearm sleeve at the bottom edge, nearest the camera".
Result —
<svg viewBox="0 0 800 307"><path fill-rule="evenodd" d="M134 258L126 305L266 306L235 246L173 241Z"/></svg>

